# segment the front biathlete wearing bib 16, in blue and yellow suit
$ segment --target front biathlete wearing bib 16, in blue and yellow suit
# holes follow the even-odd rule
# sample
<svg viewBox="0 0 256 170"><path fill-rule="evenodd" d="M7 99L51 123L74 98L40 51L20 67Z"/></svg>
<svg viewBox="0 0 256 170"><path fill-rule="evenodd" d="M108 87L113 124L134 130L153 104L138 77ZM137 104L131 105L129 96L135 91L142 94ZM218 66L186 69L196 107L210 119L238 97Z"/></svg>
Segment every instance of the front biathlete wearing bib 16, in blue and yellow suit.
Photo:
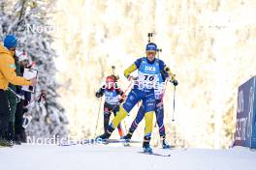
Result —
<svg viewBox="0 0 256 170"><path fill-rule="evenodd" d="M136 103L142 100L145 120L143 148L145 153L152 153L149 142L153 128L155 89L159 82L163 82L161 71L166 71L171 77L171 81L175 81L175 74L170 71L162 60L155 58L156 51L157 45L155 43L147 43L145 47L146 57L138 59L124 71L124 75L128 80L134 80L135 78L130 74L138 70L138 78L136 78L133 89L127 99L120 106L119 112L113 118L111 125L104 134L97 137L97 140L109 139L114 128L128 115Z"/></svg>

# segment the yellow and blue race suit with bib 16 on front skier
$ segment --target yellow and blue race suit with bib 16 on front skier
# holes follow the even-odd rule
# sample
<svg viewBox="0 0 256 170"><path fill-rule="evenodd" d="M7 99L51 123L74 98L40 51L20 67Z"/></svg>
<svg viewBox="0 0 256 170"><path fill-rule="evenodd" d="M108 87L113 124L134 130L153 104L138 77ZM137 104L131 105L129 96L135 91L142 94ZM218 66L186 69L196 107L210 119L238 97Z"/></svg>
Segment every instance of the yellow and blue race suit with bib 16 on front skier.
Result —
<svg viewBox="0 0 256 170"><path fill-rule="evenodd" d="M138 80L123 105L120 106L120 110L112 120L110 126L112 129L116 128L136 103L139 100L143 100L145 120L144 136L150 138L153 128L153 112L155 109L154 87L159 81L163 81L161 71L168 72L172 80L175 79L175 74L170 71L162 60L154 59L153 61L149 61L146 57L138 59L124 71L124 75L129 77L130 73L136 70L138 70Z"/></svg>

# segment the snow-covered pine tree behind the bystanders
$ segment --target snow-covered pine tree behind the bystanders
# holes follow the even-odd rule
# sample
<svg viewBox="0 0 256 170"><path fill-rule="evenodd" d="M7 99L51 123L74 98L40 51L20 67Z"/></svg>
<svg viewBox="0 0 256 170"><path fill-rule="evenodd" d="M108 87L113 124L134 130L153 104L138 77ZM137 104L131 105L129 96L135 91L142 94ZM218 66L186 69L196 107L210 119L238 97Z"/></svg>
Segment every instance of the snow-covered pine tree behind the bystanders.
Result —
<svg viewBox="0 0 256 170"><path fill-rule="evenodd" d="M53 40L50 35L52 27L48 25L50 14L53 13L54 1L34 0L0 0L0 39L6 34L15 34L18 39L18 50L25 50L36 63L39 71L39 84L34 98L42 90L47 91L45 104L36 103L32 113L31 124L26 128L30 136L64 137L67 135L67 117L63 107L56 101L58 88L55 82L54 57L55 51L50 44Z"/></svg>

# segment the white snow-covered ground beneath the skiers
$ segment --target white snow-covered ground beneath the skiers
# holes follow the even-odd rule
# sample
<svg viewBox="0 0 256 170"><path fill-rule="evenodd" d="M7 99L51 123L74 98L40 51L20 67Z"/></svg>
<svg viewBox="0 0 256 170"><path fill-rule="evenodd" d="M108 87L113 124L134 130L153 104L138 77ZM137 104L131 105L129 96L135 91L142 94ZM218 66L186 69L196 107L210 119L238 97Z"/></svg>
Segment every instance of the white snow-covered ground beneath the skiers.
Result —
<svg viewBox="0 0 256 170"><path fill-rule="evenodd" d="M154 149L171 156L140 154L141 148L121 146L22 145L0 148L1 170L255 170L256 152L231 150Z"/></svg>

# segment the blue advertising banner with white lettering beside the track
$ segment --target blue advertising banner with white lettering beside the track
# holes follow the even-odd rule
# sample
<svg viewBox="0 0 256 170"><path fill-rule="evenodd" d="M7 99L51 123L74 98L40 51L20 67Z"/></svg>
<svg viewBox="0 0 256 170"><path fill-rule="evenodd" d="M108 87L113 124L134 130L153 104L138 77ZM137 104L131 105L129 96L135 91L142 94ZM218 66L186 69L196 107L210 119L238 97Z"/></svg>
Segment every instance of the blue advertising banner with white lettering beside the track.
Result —
<svg viewBox="0 0 256 170"><path fill-rule="evenodd" d="M256 149L256 76L239 87L235 145Z"/></svg>

